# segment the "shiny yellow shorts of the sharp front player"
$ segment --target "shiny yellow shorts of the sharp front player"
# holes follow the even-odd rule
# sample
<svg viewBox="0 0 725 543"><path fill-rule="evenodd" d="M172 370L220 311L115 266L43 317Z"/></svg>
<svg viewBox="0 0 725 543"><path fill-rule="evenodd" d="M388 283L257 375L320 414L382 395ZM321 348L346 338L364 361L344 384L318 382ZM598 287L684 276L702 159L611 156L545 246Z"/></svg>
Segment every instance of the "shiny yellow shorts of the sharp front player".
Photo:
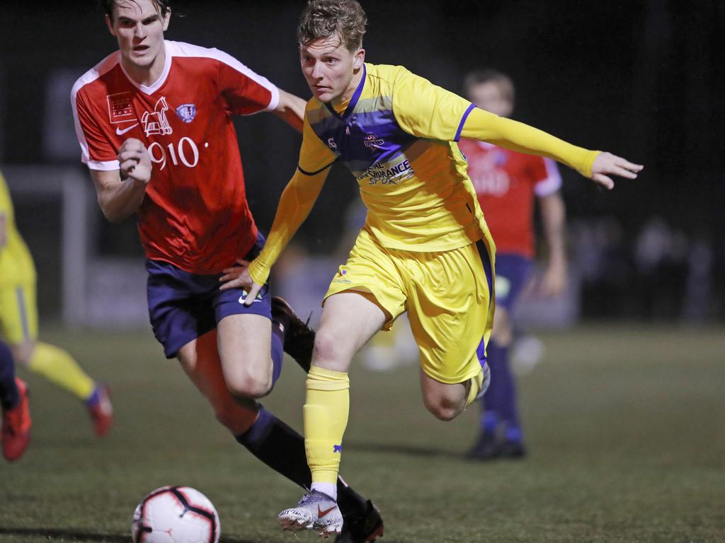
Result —
<svg viewBox="0 0 725 543"><path fill-rule="evenodd" d="M491 335L492 257L483 240L418 253L384 248L363 229L325 299L363 292L388 316L386 330L407 311L423 371L442 383L465 382L481 372L479 355L484 356Z"/></svg>

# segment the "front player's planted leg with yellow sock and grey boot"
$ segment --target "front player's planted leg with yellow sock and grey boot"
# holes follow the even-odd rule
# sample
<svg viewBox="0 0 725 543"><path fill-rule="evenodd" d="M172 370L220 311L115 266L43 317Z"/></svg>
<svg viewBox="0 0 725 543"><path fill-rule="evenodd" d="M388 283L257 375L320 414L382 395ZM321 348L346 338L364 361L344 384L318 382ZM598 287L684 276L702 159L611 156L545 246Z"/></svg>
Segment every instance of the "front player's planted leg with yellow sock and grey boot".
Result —
<svg viewBox="0 0 725 543"><path fill-rule="evenodd" d="M386 319L376 303L357 292L341 292L326 300L315 337L303 409L312 485L297 506L279 514L283 529L312 529L323 536L342 530L337 479L349 411L347 370L355 353L383 327Z"/></svg>

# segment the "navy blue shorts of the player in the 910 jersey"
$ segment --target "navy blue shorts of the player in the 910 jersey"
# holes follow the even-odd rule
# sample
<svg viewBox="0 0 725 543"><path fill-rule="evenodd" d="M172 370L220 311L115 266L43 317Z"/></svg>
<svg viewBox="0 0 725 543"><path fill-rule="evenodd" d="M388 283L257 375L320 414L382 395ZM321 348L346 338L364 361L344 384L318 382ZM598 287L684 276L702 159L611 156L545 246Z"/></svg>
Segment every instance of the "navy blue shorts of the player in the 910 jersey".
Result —
<svg viewBox="0 0 725 543"><path fill-rule="evenodd" d="M264 236L258 235L257 243L244 259L255 258L264 243ZM149 319L166 358L174 358L188 342L215 329L225 316L252 314L271 319L269 283L262 287L254 302L245 306L245 290L219 290L222 274L191 274L157 260L146 260L146 271Z"/></svg>

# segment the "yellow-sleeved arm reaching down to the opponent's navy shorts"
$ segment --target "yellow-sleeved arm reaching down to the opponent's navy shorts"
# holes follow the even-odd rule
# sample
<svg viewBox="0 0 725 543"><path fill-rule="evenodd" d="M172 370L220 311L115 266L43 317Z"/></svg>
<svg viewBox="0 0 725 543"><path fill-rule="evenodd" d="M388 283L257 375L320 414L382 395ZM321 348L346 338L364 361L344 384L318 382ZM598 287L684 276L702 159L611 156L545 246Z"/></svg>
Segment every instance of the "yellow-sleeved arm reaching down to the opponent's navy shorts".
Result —
<svg viewBox="0 0 725 543"><path fill-rule="evenodd" d="M310 214L329 171L326 168L315 174L303 174L299 169L294 172L279 199L272 230L262 252L251 263L240 260L240 266L225 269L219 278L221 290L244 288L248 292L244 300L247 306L257 298L257 293L267 282L271 267Z"/></svg>

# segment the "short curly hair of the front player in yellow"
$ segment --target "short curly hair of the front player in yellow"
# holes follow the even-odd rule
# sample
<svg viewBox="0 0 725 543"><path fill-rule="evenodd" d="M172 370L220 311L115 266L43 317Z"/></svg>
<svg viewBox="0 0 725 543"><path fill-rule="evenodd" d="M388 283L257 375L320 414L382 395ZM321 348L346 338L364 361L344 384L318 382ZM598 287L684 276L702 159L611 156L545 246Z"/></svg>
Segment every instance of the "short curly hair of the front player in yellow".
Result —
<svg viewBox="0 0 725 543"><path fill-rule="evenodd" d="M306 46L318 38L338 35L349 51L363 46L368 17L357 0L310 0L299 17L297 40Z"/></svg>

